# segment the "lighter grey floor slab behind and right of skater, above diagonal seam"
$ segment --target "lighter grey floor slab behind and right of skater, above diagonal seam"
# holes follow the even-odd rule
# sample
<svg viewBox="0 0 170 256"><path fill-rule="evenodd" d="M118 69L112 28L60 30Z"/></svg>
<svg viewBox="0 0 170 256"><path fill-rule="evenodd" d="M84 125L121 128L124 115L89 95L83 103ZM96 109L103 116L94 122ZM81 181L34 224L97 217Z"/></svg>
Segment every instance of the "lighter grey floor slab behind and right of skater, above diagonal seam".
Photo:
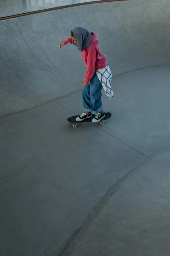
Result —
<svg viewBox="0 0 170 256"><path fill-rule="evenodd" d="M170 67L145 68L114 77L113 100L103 93L104 110L112 112L112 118L100 129L149 158L169 152L169 81ZM78 114L79 109L83 111L81 101L79 91L56 102Z"/></svg>

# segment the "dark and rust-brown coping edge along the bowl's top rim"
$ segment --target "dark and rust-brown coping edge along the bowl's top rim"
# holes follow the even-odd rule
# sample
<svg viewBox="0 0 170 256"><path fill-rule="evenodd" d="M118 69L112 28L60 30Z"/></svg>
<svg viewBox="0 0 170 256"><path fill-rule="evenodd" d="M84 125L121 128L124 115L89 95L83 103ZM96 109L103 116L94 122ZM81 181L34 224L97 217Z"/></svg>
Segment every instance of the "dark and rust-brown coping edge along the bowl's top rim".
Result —
<svg viewBox="0 0 170 256"><path fill-rule="evenodd" d="M70 7L75 7L75 6L99 4L99 3L105 3L105 2L106 3L108 3L108 2L119 2L119 1L135 1L135 0L106 0L106 1L105 0L101 0L101 1L99 0L99 1L95 1L95 2L86 2L86 3L80 3L80 4L72 4L72 5L60 6L60 7L55 7L55 8L49 8L49 9L43 9L43 10L38 10L38 11L31 11L31 12L26 12L26 13L21 13L21 14L1 17L0 21L1 20L12 19L12 18L18 18L18 17L27 16L27 15L36 14L36 13L41 13L41 12L65 9L65 8L70 8Z"/></svg>

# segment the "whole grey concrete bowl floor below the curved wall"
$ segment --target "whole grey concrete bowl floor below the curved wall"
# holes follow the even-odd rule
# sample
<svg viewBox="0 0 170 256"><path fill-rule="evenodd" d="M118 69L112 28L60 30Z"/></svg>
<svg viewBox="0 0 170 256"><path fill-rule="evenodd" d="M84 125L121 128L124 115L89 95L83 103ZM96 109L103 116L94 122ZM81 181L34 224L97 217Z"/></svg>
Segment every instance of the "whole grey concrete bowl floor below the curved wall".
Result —
<svg viewBox="0 0 170 256"><path fill-rule="evenodd" d="M103 126L66 122L81 92L1 118L3 256L61 255L76 234L64 255L169 254L169 71L115 77Z"/></svg>

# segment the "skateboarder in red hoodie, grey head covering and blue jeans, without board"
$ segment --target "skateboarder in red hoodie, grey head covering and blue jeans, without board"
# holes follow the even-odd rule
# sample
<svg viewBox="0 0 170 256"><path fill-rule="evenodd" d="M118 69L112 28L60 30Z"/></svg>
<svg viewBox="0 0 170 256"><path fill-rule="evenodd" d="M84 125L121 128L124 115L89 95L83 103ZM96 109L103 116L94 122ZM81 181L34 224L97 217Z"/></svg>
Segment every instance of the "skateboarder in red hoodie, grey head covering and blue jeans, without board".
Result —
<svg viewBox="0 0 170 256"><path fill-rule="evenodd" d="M62 41L59 47L67 43L72 43L78 48L87 68L85 79L81 83L85 113L78 116L76 121L82 121L96 114L92 122L99 122L105 117L101 100L102 86L110 99L114 95L110 86L112 74L106 62L106 56L100 53L97 35L84 27L77 26L71 29L71 37Z"/></svg>

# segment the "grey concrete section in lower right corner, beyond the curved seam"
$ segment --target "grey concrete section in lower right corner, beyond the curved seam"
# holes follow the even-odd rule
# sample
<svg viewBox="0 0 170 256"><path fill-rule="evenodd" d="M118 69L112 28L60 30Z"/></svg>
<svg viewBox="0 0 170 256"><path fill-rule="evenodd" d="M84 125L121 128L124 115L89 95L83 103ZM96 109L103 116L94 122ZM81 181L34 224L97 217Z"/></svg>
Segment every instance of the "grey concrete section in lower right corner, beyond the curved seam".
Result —
<svg viewBox="0 0 170 256"><path fill-rule="evenodd" d="M168 256L169 170L170 154L138 167L103 199L63 256Z"/></svg>

